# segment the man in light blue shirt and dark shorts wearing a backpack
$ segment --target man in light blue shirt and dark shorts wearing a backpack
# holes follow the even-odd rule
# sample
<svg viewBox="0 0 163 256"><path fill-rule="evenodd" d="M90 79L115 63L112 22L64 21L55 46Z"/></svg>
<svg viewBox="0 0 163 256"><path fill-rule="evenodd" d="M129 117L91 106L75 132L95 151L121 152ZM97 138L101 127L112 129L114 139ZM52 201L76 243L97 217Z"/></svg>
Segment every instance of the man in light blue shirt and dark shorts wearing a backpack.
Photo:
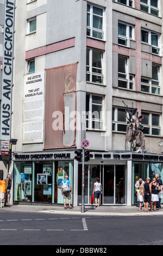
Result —
<svg viewBox="0 0 163 256"><path fill-rule="evenodd" d="M69 209L72 209L71 207L71 194L72 194L72 187L70 184L70 180L68 180L68 176L65 175L65 179L61 182L61 193L64 196L64 208L66 207L66 198L69 200Z"/></svg>

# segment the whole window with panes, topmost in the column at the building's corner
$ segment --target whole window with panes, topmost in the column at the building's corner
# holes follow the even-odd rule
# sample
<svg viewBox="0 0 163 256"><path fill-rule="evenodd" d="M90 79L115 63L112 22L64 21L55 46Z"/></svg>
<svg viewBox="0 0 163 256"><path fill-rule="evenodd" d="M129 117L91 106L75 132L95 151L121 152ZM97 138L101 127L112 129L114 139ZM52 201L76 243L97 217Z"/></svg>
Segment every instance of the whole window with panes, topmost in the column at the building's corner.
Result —
<svg viewBox="0 0 163 256"><path fill-rule="evenodd" d="M104 9L91 4L87 5L87 35L93 38L104 39L103 30Z"/></svg>

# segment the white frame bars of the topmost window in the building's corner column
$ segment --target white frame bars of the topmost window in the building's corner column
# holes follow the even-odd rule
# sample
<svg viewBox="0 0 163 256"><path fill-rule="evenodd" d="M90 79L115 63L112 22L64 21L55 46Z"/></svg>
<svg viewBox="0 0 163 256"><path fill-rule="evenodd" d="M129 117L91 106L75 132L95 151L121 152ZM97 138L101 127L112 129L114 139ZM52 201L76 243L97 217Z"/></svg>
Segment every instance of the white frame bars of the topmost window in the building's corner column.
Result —
<svg viewBox="0 0 163 256"><path fill-rule="evenodd" d="M96 38L96 39L99 39L99 40L104 40L104 11L105 10L104 10L104 8L98 7L97 5L93 5L93 4L87 4L87 5L90 6L90 12L87 11L87 15L90 16L90 26L87 26L87 29L90 31L90 35L87 35L87 36L90 36L91 38ZM103 16L93 14L93 7L102 9L103 10ZM103 29L93 28L93 15L98 16L98 17L102 17L102 19L103 19ZM97 33L102 33L102 38L98 38L96 36L93 36L93 31L95 31Z"/></svg>

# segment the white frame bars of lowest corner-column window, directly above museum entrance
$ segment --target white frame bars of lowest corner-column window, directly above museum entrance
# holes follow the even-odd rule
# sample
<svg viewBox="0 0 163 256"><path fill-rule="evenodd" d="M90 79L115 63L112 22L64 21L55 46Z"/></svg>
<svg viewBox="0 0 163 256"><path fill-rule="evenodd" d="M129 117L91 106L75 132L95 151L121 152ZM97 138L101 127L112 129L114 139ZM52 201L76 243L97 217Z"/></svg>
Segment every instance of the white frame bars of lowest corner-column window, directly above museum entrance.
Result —
<svg viewBox="0 0 163 256"><path fill-rule="evenodd" d="M92 102L92 97L93 96L97 96L97 97L101 97L102 99L102 104L98 104L98 103L93 103ZM89 97L89 111L87 111L86 109L86 130L92 130L92 131L104 131L104 96L101 95L94 95L94 94L87 94L86 95L86 100L87 97ZM101 106L102 107L102 111L101 111L101 119L100 118L95 118L92 112L92 105L97 105L97 106ZM88 115L88 117L87 117ZM92 123L95 121L95 123L101 123L102 127L101 129L99 129L99 127L95 127L93 128Z"/></svg>

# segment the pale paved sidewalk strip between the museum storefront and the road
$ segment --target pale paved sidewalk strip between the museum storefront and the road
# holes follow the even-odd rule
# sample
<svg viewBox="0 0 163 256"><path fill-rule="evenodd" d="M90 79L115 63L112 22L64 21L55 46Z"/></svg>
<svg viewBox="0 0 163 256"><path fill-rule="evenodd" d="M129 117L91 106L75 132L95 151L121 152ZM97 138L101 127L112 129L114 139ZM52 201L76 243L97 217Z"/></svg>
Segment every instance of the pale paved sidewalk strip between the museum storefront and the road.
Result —
<svg viewBox="0 0 163 256"><path fill-rule="evenodd" d="M68 205L67 205L68 206ZM149 209L149 208L148 208ZM73 209L64 209L64 206L46 206L46 205L11 205L11 207L0 208L0 212L42 212L47 214L65 214L65 215L89 215L89 216L145 216L145 215L163 215L163 208L157 212L140 212L136 206L114 205L99 206L85 205L85 212L81 212L81 206L75 206Z"/></svg>

